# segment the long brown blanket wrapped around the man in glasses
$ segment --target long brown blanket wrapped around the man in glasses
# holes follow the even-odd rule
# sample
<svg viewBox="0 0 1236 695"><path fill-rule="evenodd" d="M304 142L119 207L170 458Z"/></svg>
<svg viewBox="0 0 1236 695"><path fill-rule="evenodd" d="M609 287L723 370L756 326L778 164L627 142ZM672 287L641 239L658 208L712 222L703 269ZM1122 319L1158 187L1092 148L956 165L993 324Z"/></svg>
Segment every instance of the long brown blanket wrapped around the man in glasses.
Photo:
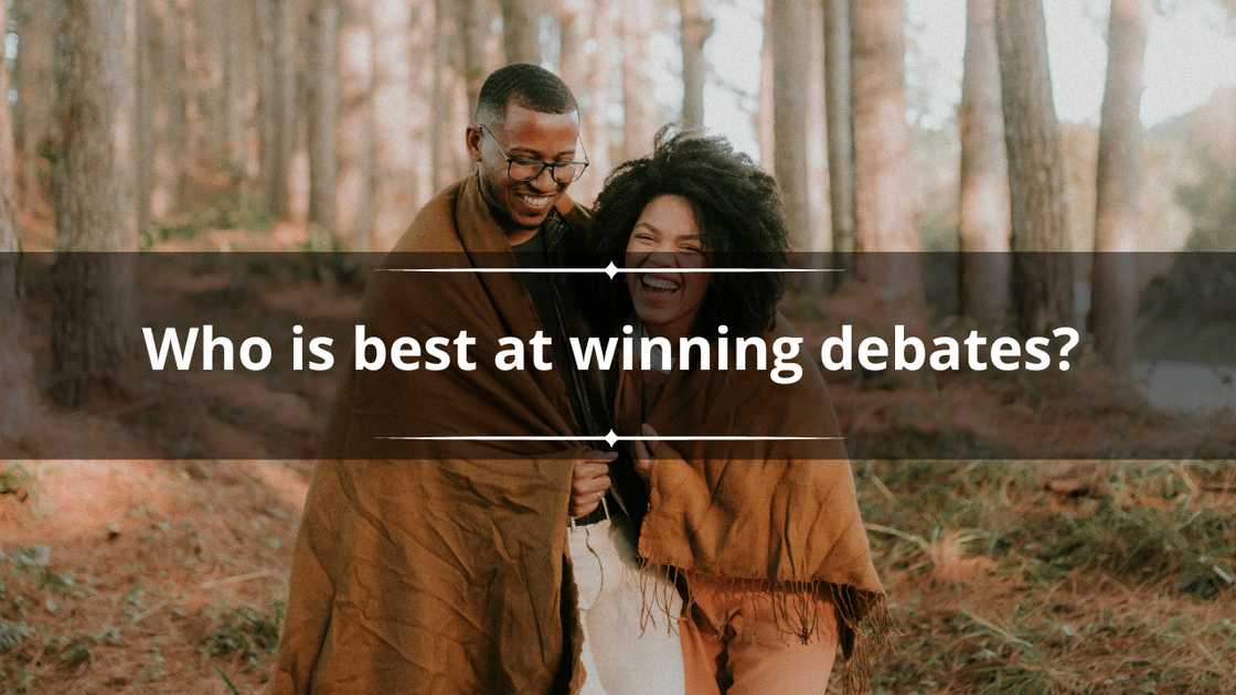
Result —
<svg viewBox="0 0 1236 695"><path fill-rule="evenodd" d="M559 211L582 221L565 198ZM515 263L475 177L435 197L384 263L433 265L400 258L423 252ZM466 329L478 369L353 375L331 428L341 460L319 464L309 491L271 691L575 690L564 549L570 458L583 446L480 444L465 460L457 445L376 439L578 433L559 373L493 369L498 338L540 328L528 293L510 273L376 272L362 313L388 345Z"/></svg>

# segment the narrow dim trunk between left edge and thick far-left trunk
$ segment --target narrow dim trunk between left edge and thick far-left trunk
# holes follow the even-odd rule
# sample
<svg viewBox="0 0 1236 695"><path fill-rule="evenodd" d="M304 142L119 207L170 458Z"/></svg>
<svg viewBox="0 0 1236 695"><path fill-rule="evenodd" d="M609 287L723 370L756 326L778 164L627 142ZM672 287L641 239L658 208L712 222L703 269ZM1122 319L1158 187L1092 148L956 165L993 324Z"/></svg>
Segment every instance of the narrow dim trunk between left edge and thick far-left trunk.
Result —
<svg viewBox="0 0 1236 695"><path fill-rule="evenodd" d="M56 110L56 90L52 84L52 4L47 0L17 0L14 2L17 36L21 49L14 78L17 87L17 108L14 113L16 150L21 162L17 169L19 200L14 204L30 210L41 200L48 200L51 179L46 153L52 142L52 114Z"/></svg>

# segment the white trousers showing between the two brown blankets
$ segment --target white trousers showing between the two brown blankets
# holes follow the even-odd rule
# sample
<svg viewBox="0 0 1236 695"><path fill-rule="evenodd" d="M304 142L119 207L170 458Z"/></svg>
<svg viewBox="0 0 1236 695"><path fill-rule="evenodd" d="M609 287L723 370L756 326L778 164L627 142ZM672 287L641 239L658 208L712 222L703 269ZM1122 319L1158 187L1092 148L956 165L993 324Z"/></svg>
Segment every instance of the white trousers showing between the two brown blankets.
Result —
<svg viewBox="0 0 1236 695"><path fill-rule="evenodd" d="M660 575L639 570L632 543L608 519L572 528L569 535L587 672L581 695L682 695L686 679L676 622L658 605L640 627L640 575L649 601L670 597L669 616L681 612L677 591Z"/></svg>

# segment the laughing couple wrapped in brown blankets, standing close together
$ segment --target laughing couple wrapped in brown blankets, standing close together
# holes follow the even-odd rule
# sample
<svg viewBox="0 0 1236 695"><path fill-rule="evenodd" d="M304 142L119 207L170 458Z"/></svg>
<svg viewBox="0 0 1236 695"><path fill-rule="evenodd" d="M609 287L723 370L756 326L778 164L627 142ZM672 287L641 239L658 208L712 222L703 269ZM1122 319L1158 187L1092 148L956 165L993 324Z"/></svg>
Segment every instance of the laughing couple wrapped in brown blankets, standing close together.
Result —
<svg viewBox="0 0 1236 695"><path fill-rule="evenodd" d="M571 443L836 433L810 364L776 386L567 359L567 336L789 331L775 273L656 272L782 265L775 183L724 141L679 135L619 167L590 213L565 194L586 166L578 136L556 75L489 75L466 132L476 173L425 205L386 270L439 254L648 272L372 275L370 335L467 330L482 369L352 375L305 503L272 693L822 693L838 649L861 685L884 601L839 445L649 439L619 458ZM538 334L554 370L483 367L499 339Z"/></svg>

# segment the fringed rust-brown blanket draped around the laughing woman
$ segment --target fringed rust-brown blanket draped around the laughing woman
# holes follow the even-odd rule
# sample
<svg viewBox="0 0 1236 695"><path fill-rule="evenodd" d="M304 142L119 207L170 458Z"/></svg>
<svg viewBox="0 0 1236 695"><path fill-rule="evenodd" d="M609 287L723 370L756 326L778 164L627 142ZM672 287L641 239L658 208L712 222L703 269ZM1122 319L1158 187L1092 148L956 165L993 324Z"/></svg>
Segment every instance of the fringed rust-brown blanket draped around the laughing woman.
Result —
<svg viewBox="0 0 1236 695"><path fill-rule="evenodd" d="M782 317L777 326L770 343L792 335ZM798 364L794 385L759 371L675 371L650 407L640 403L641 372L623 372L614 417L622 434L646 422L660 435L837 437L819 371L807 357ZM654 455L641 558L685 575L688 587L702 574L771 592L779 623L803 641L823 617L803 599L823 592L849 658L847 684L863 689L886 611L843 441L674 441Z"/></svg>

